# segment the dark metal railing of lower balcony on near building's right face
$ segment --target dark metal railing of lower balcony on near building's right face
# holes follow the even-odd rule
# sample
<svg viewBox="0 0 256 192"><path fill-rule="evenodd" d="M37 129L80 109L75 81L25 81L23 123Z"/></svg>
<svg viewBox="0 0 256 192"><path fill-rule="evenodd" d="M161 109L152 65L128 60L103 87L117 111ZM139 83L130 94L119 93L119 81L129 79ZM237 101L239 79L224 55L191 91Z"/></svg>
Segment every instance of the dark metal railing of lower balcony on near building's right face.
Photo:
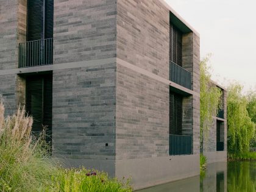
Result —
<svg viewBox="0 0 256 192"><path fill-rule="evenodd" d="M169 155L192 154L192 137L188 135L169 135Z"/></svg>

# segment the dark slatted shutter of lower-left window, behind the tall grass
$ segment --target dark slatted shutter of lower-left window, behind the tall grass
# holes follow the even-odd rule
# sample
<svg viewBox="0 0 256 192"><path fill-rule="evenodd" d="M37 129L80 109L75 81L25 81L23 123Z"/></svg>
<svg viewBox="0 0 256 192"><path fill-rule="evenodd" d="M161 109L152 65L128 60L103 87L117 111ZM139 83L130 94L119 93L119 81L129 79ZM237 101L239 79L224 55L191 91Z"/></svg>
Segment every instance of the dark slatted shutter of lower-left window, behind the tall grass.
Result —
<svg viewBox="0 0 256 192"><path fill-rule="evenodd" d="M46 140L51 143L52 74L26 78L26 111L34 119L32 133L38 137L43 126L47 126Z"/></svg>

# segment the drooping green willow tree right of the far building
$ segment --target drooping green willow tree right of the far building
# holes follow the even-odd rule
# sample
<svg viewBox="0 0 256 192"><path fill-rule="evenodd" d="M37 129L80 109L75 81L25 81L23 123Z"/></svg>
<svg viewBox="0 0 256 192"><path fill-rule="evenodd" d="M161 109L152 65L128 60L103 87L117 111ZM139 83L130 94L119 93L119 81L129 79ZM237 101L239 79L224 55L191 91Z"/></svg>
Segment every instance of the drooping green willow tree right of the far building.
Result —
<svg viewBox="0 0 256 192"><path fill-rule="evenodd" d="M255 124L247 112L248 100L241 93L242 89L240 84L231 84L227 93L228 150L231 154L249 151L254 138Z"/></svg>

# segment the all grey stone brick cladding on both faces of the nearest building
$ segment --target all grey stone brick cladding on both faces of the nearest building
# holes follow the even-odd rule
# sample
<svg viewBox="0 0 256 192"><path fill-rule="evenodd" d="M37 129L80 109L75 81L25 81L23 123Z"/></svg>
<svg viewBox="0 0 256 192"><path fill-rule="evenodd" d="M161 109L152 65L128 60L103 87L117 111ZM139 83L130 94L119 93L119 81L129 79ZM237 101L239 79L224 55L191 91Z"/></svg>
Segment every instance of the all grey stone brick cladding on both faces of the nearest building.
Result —
<svg viewBox="0 0 256 192"><path fill-rule="evenodd" d="M1 71L18 68L18 43L26 41L26 3L0 0ZM183 67L191 72L195 93L183 101L183 132L193 137L193 154L199 154L200 42L193 32L182 40ZM165 5L157 0L54 0L53 64L54 157L168 158L169 83L157 80L169 80ZM26 75L0 75L6 113L25 104Z"/></svg>

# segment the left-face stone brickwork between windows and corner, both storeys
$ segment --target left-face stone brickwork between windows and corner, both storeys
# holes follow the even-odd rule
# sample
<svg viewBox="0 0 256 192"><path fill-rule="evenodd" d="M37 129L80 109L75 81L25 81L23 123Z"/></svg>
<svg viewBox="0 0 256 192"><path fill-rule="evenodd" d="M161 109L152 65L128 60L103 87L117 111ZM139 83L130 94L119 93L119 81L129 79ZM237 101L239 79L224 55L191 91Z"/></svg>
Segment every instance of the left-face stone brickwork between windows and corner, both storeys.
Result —
<svg viewBox="0 0 256 192"><path fill-rule="evenodd" d="M54 1L54 64L114 57L116 0ZM115 158L115 81L115 62L54 71L55 156Z"/></svg>

